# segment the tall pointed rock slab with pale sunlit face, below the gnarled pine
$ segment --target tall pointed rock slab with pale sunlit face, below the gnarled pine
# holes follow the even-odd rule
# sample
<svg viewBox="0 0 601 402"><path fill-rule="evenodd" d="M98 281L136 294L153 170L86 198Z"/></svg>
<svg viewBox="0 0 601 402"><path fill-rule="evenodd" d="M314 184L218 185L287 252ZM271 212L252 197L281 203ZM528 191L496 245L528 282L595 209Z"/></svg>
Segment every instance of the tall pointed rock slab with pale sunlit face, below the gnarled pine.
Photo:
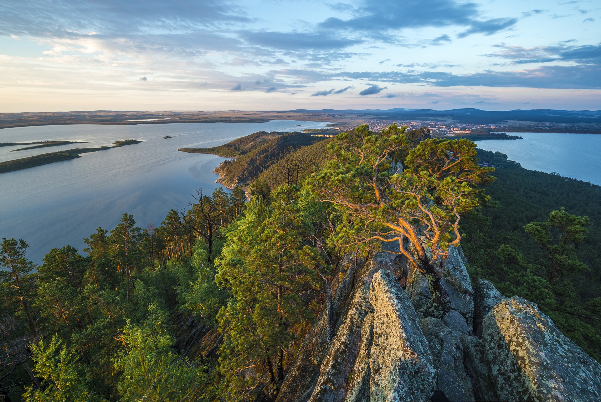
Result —
<svg viewBox="0 0 601 402"><path fill-rule="evenodd" d="M424 401L434 392L435 368L411 300L389 271L371 281L374 307L370 401Z"/></svg>

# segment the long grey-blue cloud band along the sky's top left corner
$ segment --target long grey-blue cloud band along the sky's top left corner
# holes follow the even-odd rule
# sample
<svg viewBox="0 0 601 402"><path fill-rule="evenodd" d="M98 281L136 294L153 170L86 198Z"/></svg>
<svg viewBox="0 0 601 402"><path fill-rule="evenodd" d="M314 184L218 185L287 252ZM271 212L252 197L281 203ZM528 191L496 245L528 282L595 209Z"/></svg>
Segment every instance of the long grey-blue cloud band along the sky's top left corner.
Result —
<svg viewBox="0 0 601 402"><path fill-rule="evenodd" d="M75 37L182 32L248 22L242 9L218 0L22 0L5 2L0 32Z"/></svg>

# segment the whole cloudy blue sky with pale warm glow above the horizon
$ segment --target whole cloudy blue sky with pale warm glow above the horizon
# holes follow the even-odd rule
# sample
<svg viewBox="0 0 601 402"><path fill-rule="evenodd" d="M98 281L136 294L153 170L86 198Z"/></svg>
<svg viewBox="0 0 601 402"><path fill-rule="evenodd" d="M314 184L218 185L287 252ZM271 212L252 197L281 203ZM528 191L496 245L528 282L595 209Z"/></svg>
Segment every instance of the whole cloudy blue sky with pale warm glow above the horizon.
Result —
<svg viewBox="0 0 601 402"><path fill-rule="evenodd" d="M601 1L0 0L0 112L601 109Z"/></svg>

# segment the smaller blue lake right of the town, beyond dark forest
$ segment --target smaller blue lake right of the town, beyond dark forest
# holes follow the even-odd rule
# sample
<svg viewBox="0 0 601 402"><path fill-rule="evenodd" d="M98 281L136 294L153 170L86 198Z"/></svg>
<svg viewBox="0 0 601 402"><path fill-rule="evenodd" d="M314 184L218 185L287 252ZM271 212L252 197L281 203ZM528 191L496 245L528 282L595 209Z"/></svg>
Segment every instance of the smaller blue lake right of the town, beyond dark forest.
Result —
<svg viewBox="0 0 601 402"><path fill-rule="evenodd" d="M487 139L478 147L507 154L523 168L601 184L601 135L508 133L523 139Z"/></svg>

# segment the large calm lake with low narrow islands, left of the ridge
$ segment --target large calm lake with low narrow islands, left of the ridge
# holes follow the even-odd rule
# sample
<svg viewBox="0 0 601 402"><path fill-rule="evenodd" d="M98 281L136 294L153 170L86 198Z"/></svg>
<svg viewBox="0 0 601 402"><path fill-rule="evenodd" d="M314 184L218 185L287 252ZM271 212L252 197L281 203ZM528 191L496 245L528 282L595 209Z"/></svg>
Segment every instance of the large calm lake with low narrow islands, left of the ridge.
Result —
<svg viewBox="0 0 601 402"><path fill-rule="evenodd" d="M41 263L55 247L72 245L97 227L112 230L124 212L139 227L159 226L171 209L182 209L199 188L210 193L220 186L213 173L221 157L180 152L178 148L206 148L251 133L293 132L326 123L280 120L266 123L140 124L136 126L66 125L1 129L0 142L41 140L86 141L63 147L15 151L0 147L0 161L50 151L111 145L123 139L143 140L81 158L0 174L0 238L22 238L29 243L28 258ZM163 139L163 136L174 138ZM84 253L85 255L85 253Z"/></svg>

